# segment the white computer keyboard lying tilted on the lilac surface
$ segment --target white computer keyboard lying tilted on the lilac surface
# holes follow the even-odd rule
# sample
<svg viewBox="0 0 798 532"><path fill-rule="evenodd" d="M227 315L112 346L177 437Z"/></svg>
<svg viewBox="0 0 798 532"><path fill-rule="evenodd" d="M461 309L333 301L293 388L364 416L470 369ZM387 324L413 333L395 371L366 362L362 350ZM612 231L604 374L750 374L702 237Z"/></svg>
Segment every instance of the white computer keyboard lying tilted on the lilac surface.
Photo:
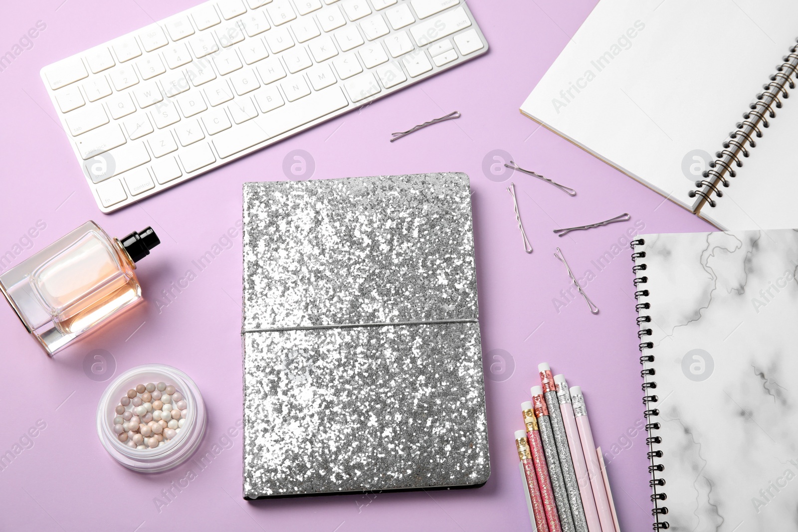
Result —
<svg viewBox="0 0 798 532"><path fill-rule="evenodd" d="M41 77L111 212L487 50L464 0L211 0Z"/></svg>

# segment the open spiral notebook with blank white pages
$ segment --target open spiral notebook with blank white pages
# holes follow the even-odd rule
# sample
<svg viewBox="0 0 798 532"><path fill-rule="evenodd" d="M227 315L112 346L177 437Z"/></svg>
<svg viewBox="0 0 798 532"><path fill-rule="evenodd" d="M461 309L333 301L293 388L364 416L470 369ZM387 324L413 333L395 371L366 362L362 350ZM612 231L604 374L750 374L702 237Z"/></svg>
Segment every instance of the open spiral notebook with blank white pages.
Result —
<svg viewBox="0 0 798 532"><path fill-rule="evenodd" d="M796 37L794 1L602 0L521 112L721 229L798 227Z"/></svg>

